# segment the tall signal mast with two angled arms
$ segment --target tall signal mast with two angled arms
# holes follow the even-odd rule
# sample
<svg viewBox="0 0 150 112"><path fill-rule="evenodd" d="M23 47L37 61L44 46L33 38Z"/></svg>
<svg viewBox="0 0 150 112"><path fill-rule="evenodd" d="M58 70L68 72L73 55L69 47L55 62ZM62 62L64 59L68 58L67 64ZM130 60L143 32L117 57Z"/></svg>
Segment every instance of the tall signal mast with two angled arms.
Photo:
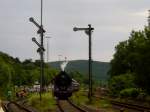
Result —
<svg viewBox="0 0 150 112"><path fill-rule="evenodd" d="M40 60L41 60L41 64L40 64L40 68L41 68L41 71L40 71L40 100L41 100L42 99L41 93L43 92L43 87L44 87L43 80L44 80L44 51L45 51L45 49L44 49L44 45L43 45L43 37L44 37L44 33L46 32L43 29L43 23L42 23L42 21L43 21L43 0L41 0L41 24L39 25L32 17L29 18L29 20L35 26L38 27L37 34L39 34L41 37L40 43L38 43L35 38L32 38L32 41L35 42L39 47L37 52L39 52Z"/></svg>

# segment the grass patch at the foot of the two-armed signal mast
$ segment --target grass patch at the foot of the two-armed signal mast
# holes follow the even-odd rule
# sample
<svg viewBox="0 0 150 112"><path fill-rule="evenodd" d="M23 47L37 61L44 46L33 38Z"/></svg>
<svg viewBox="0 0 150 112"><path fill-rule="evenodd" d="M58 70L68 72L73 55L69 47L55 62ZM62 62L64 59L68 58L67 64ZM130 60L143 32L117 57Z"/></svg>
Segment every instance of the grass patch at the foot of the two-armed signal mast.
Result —
<svg viewBox="0 0 150 112"><path fill-rule="evenodd" d="M37 93L31 94L28 98L28 104L36 108L37 110L40 110L40 112L48 112L48 111L55 112L56 108L56 102L51 92L43 93L41 101L39 94Z"/></svg>

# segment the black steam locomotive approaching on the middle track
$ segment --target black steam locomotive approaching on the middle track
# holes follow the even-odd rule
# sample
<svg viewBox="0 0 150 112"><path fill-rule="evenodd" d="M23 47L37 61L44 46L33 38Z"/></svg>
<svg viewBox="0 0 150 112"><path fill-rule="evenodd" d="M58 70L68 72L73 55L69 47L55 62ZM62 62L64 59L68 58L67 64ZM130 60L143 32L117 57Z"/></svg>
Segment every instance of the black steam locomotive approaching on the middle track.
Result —
<svg viewBox="0 0 150 112"><path fill-rule="evenodd" d="M61 71L53 80L53 94L58 99L68 99L74 91L79 89L79 83L72 79L65 71Z"/></svg>

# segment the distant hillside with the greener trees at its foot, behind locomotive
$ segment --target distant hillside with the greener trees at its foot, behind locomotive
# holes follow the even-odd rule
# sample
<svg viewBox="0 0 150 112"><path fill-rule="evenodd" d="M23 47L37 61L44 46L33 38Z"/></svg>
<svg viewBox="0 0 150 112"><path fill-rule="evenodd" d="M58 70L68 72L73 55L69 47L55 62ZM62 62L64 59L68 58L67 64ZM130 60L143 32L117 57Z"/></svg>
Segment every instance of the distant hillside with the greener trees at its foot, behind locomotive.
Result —
<svg viewBox="0 0 150 112"><path fill-rule="evenodd" d="M57 70L60 70L60 61L50 62L49 66ZM107 85L108 79L108 70L110 64L108 62L92 62L92 79L93 79L93 88L96 86L105 86ZM80 86L88 87L89 76L88 76L88 60L73 60L69 61L65 71L67 71L72 78L77 80L80 83Z"/></svg>

